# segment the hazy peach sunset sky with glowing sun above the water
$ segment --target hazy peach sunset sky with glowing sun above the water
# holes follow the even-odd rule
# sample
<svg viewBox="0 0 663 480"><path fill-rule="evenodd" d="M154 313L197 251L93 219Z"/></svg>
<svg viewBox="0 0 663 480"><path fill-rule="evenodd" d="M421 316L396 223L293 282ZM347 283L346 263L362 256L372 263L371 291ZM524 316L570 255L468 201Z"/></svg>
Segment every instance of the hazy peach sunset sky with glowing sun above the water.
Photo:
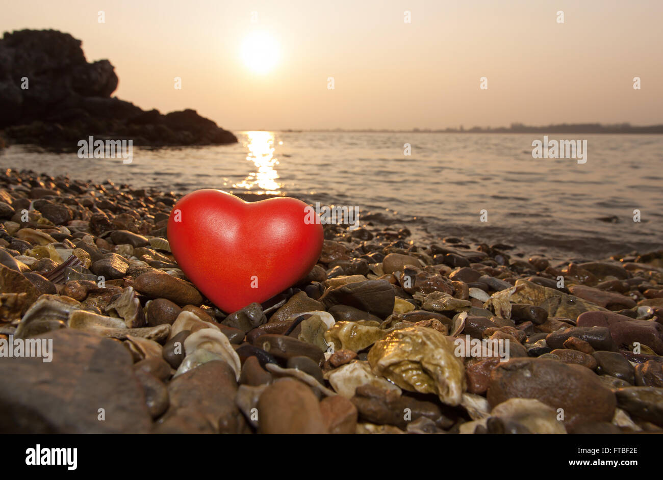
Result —
<svg viewBox="0 0 663 480"><path fill-rule="evenodd" d="M0 4L2 32L62 30L88 61L109 59L121 99L196 109L231 130L663 123L658 0ZM252 34L274 62L267 72L243 56Z"/></svg>

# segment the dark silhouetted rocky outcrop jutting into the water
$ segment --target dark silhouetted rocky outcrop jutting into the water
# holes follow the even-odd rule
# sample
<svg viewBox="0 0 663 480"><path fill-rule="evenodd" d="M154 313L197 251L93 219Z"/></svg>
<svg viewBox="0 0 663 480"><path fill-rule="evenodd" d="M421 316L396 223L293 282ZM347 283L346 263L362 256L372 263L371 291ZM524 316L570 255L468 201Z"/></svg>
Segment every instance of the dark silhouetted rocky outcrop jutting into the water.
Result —
<svg viewBox="0 0 663 480"><path fill-rule="evenodd" d="M111 94L117 88L108 60L88 63L81 40L57 30L5 32L0 40L0 128L10 143L75 150L90 136L134 145L237 142L194 110L162 115Z"/></svg>

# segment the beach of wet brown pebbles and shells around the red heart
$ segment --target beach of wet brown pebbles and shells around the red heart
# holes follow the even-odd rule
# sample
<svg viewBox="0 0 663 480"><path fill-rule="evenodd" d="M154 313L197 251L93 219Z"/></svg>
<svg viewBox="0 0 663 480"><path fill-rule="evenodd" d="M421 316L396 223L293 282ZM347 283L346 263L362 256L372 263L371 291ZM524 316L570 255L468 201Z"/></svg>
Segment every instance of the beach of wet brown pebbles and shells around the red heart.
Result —
<svg viewBox="0 0 663 480"><path fill-rule="evenodd" d="M560 261L364 216L223 312L170 252L181 196L0 173L0 431L663 431L663 250ZM459 354L479 343L501 356Z"/></svg>

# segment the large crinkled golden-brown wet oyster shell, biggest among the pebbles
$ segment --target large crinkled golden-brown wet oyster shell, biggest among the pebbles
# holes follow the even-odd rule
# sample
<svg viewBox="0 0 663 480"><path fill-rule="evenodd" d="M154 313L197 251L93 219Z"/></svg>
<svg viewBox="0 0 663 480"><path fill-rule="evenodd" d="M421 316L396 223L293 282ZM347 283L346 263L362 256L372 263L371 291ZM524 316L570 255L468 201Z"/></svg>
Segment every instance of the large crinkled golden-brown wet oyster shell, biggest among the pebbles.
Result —
<svg viewBox="0 0 663 480"><path fill-rule="evenodd" d="M453 351L453 341L437 330L411 326L375 342L368 360L373 373L402 389L434 393L455 406L465 391L465 367Z"/></svg>

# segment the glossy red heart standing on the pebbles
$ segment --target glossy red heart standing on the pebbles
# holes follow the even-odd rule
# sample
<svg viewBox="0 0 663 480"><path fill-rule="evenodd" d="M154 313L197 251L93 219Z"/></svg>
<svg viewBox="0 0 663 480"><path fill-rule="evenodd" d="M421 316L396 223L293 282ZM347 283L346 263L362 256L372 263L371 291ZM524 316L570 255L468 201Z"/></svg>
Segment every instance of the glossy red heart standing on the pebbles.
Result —
<svg viewBox="0 0 663 480"><path fill-rule="evenodd" d="M197 190L173 207L168 242L198 290L230 313L291 287L318 262L324 236L310 209L289 197L249 203Z"/></svg>

